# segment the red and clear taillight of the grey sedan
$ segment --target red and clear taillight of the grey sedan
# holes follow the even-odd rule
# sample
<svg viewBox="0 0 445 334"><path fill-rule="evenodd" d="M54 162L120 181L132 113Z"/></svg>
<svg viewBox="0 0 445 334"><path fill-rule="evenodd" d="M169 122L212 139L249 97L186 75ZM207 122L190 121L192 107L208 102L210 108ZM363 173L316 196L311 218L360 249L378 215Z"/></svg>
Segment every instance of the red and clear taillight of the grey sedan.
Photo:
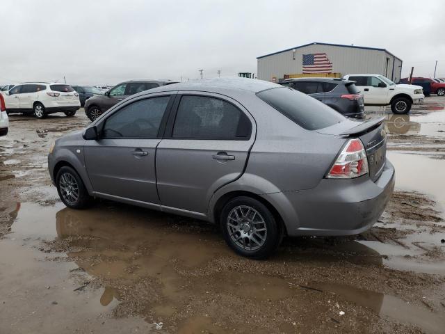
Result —
<svg viewBox="0 0 445 334"><path fill-rule="evenodd" d="M330 179L353 179L368 173L368 159L362 141L350 139L337 157L326 177Z"/></svg>

